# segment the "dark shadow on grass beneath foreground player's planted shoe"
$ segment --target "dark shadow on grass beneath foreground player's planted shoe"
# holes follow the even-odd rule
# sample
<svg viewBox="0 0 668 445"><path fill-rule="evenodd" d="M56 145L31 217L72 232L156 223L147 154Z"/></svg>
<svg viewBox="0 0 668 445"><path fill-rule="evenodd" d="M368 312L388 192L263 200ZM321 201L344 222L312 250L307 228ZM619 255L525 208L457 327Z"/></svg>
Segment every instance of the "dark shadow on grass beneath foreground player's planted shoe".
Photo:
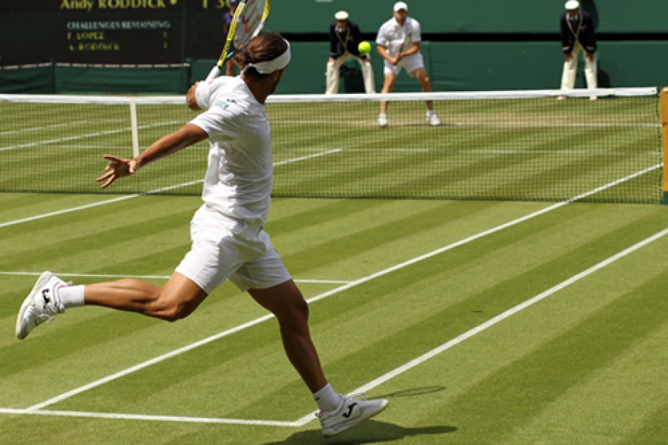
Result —
<svg viewBox="0 0 668 445"><path fill-rule="evenodd" d="M365 420L356 427L338 434L335 437L323 437L320 429L311 431L300 431L292 434L284 441L268 442L265 445L354 445L354 444L377 444L379 442L391 442L431 434L448 434L457 431L455 427L418 427L403 428L387 422L377 420Z"/></svg>

